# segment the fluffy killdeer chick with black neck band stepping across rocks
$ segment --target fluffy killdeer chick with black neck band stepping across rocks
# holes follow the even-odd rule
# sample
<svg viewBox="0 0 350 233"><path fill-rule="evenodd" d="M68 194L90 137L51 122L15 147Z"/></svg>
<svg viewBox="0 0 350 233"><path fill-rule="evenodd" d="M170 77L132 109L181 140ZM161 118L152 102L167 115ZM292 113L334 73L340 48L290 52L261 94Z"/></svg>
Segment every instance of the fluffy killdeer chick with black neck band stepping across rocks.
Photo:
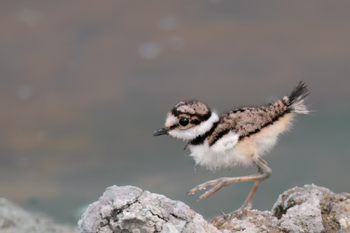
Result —
<svg viewBox="0 0 350 233"><path fill-rule="evenodd" d="M237 108L222 115L211 111L200 101L180 101L167 114L165 127L156 130L153 136L167 134L187 141L186 146L196 164L212 171L240 164L255 164L258 167L257 174L218 178L197 185L187 193L194 194L198 190L214 186L200 196L200 200L232 183L255 181L241 208L225 216L232 219L251 209L260 181L271 176L272 170L261 156L276 144L279 134L290 129L297 113L309 113L304 104L307 95L307 86L300 81L288 97L266 106ZM218 219L219 217L214 220Z"/></svg>

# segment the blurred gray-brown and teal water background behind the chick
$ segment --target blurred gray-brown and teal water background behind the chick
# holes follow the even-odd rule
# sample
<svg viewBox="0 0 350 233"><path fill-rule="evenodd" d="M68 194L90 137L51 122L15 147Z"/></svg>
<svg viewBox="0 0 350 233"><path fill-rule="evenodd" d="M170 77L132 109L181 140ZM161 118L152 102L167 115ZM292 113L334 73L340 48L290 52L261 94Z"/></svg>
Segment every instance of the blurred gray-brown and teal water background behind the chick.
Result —
<svg viewBox="0 0 350 233"><path fill-rule="evenodd" d="M295 185L350 192L349 12L349 1L1 1L0 197L73 225L111 185L228 213L252 182L200 202L185 193L256 168L194 169L185 143L154 130L177 101L230 111L299 80L314 112L264 157L274 173L253 208Z"/></svg>

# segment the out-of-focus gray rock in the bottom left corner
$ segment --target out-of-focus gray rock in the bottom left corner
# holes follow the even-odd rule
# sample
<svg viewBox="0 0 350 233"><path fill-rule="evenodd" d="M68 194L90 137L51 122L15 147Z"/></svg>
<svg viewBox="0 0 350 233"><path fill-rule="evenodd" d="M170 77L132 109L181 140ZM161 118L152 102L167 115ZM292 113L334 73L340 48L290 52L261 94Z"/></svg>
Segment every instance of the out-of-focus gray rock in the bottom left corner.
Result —
<svg viewBox="0 0 350 233"><path fill-rule="evenodd" d="M1 233L77 233L72 227L58 225L41 213L31 213L0 198Z"/></svg>

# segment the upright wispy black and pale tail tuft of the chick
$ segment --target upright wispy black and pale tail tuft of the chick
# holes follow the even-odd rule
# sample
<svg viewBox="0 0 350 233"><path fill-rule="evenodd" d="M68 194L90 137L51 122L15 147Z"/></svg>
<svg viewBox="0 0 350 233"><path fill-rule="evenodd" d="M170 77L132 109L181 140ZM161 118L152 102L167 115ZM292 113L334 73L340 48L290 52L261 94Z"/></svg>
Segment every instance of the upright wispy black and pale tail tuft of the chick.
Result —
<svg viewBox="0 0 350 233"><path fill-rule="evenodd" d="M309 90L307 90L307 85L300 81L296 87L294 87L293 92L290 93L289 97L284 97L283 101L286 101L288 108L291 112L308 114L309 110L304 103L305 98L309 95Z"/></svg>

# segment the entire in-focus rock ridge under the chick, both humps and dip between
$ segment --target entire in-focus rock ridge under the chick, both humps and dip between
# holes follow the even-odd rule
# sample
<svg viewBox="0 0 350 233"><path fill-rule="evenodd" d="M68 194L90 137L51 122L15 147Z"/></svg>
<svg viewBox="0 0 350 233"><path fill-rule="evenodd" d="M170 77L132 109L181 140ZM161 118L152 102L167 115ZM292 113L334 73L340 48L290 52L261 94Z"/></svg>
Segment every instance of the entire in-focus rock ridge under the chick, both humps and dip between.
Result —
<svg viewBox="0 0 350 233"><path fill-rule="evenodd" d="M88 207L78 228L83 233L350 232L350 194L304 185L279 195L272 211L247 211L240 220L212 224L182 202L113 186Z"/></svg>

